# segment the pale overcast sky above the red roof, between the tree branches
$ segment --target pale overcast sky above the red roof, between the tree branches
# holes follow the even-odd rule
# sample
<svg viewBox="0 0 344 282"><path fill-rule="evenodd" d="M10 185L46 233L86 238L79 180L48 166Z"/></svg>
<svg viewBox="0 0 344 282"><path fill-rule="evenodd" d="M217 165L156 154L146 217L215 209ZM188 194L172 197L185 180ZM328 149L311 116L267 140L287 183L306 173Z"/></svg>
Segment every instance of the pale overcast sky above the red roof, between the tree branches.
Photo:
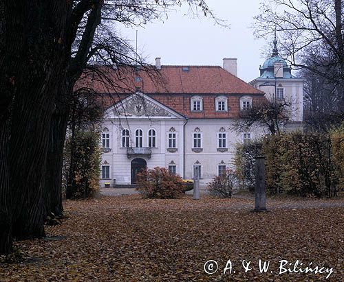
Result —
<svg viewBox="0 0 344 282"><path fill-rule="evenodd" d="M217 17L228 21L230 29L216 25L209 17L191 19L183 16L186 6L169 12L168 19L128 29L121 33L135 46L138 30L138 52L148 63L156 57L161 63L178 65L220 65L223 58L237 58L238 77L250 82L259 76L264 63L261 51L268 39L257 40L250 28L253 16L259 14L257 0L207 0Z"/></svg>

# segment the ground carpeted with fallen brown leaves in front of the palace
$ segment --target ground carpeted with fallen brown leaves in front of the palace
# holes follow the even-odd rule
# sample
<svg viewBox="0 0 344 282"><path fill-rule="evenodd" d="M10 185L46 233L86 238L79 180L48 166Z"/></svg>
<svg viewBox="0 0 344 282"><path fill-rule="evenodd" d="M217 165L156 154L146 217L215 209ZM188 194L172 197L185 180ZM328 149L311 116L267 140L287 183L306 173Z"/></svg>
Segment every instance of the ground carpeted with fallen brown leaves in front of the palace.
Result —
<svg viewBox="0 0 344 282"><path fill-rule="evenodd" d="M269 213L252 213L251 198L190 195L67 201L69 218L47 226L46 239L17 242L25 261L0 263L0 281L343 281L344 201L267 205ZM270 261L266 273L259 259ZM209 260L217 261L215 274L204 271ZM231 273L224 274L228 260ZM312 263L333 273L279 274L282 260L291 269L299 260L297 270ZM245 273L242 261L251 261L251 270ZM215 264L206 267L215 271Z"/></svg>

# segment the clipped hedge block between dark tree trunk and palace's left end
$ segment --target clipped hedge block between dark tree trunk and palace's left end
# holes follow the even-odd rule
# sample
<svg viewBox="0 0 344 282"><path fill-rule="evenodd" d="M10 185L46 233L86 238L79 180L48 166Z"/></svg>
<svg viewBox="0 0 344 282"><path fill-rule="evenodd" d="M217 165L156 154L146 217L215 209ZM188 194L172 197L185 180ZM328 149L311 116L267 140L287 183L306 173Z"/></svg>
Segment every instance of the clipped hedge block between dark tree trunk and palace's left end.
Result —
<svg viewBox="0 0 344 282"><path fill-rule="evenodd" d="M101 159L99 136L94 131L76 131L74 137L67 139L64 154L67 198L90 198L98 191Z"/></svg>

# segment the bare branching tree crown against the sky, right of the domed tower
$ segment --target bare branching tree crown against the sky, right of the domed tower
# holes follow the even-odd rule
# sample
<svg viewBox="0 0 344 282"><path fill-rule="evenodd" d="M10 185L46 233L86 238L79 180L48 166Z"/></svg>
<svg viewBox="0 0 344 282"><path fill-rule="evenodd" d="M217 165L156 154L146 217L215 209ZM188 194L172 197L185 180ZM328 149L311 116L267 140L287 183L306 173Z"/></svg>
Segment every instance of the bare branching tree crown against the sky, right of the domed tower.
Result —
<svg viewBox="0 0 344 282"><path fill-rule="evenodd" d="M292 66L332 82L338 115L344 112L343 6L343 0L269 0L255 17L255 34L277 30L281 54Z"/></svg>

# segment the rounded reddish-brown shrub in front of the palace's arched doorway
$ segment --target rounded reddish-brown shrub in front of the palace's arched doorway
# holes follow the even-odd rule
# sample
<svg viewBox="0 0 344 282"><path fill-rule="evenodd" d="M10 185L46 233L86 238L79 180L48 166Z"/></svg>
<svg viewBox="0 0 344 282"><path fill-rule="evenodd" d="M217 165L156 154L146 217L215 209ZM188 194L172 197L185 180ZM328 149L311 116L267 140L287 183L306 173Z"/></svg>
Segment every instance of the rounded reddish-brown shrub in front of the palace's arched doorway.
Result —
<svg viewBox="0 0 344 282"><path fill-rule="evenodd" d="M137 190L144 198L173 199L184 192L180 176L171 175L163 167L144 169L138 174Z"/></svg>

